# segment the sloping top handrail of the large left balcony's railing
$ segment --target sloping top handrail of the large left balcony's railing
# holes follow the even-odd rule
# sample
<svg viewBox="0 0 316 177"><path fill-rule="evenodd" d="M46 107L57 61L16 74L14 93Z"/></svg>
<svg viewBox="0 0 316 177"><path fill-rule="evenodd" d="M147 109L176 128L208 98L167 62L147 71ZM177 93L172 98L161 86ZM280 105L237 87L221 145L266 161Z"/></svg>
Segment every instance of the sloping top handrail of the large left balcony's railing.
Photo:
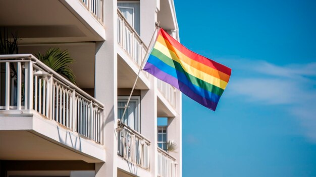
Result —
<svg viewBox="0 0 316 177"><path fill-rule="evenodd" d="M34 55L32 54L10 54L10 55L0 55L0 60L1 59L30 59L37 65L39 65L42 69L46 70L49 74L54 75L54 77L60 79L59 81L64 82L64 84L68 85L70 88L72 88L75 92L78 94L86 97L88 100L92 100L100 108L104 108L104 105L97 101L95 98L91 97L89 94L85 93L84 91L81 90L78 86L67 80L65 77L61 76L58 74L56 71L52 70L50 67L46 66L43 62L39 61Z"/></svg>

